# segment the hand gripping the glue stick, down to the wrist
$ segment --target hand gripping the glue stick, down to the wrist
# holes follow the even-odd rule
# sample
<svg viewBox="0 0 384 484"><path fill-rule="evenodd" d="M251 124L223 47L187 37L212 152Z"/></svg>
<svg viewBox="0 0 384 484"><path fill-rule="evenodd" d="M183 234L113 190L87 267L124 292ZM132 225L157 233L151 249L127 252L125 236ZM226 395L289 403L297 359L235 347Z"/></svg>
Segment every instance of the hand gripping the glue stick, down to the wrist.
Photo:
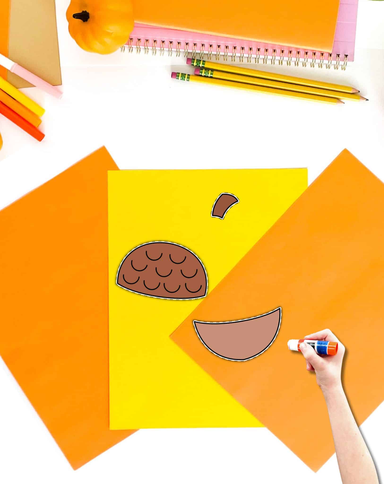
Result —
<svg viewBox="0 0 384 484"><path fill-rule="evenodd" d="M337 341L338 353L335 356L318 355L315 350L307 345L300 344L300 351L307 360L307 370L316 372L316 381L323 392L332 390L341 385L341 365L345 347L331 330L323 330L305 336L305 339L316 339L325 341Z"/></svg>

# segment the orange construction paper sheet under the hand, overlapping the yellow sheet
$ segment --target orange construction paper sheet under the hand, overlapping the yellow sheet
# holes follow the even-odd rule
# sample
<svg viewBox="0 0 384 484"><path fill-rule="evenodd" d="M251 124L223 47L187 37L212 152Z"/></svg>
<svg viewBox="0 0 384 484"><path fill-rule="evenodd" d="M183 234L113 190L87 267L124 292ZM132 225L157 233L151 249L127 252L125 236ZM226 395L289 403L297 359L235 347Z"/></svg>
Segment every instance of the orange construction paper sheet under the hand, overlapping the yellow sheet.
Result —
<svg viewBox="0 0 384 484"><path fill-rule="evenodd" d="M384 184L344 150L171 335L315 471L335 452L328 413L315 375L287 342L330 328L347 348L343 385L357 423L384 400L383 220ZM192 323L277 306L276 340L247 362L215 356Z"/></svg>

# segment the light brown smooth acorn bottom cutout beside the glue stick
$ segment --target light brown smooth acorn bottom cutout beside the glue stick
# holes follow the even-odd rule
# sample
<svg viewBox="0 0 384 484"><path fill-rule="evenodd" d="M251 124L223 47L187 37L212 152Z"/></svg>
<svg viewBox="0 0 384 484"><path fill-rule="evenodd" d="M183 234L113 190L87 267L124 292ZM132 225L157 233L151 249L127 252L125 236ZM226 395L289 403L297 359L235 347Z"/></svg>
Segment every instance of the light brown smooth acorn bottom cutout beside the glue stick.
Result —
<svg viewBox="0 0 384 484"><path fill-rule="evenodd" d="M246 361L256 358L274 342L281 323L281 307L254 318L224 323L193 321L205 348L220 358Z"/></svg>

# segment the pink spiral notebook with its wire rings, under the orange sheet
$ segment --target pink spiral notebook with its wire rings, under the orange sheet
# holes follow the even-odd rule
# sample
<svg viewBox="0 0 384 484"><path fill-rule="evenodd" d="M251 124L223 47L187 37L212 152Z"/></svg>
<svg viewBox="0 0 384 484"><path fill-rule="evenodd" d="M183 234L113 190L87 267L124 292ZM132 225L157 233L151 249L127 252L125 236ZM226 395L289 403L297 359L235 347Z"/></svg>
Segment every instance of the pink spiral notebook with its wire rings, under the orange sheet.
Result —
<svg viewBox="0 0 384 484"><path fill-rule="evenodd" d="M135 24L122 51L133 52L135 49L137 53L143 51L148 54L151 50L155 55L159 50L160 55L164 55L167 50L169 56L175 51L177 57L183 51L184 57L192 54L192 57L199 56L200 59L203 59L207 56L209 60L213 58L216 61L228 61L230 58L233 62L243 62L246 57L247 62L254 59L256 63L275 64L278 62L295 66L301 64L304 67L307 65L315 67L317 64L319 67L324 65L328 69L333 65L335 69L340 67L345 70L347 62L353 61L354 56L357 4L358 0L340 0L332 52L314 52L287 45L263 44L143 24Z"/></svg>

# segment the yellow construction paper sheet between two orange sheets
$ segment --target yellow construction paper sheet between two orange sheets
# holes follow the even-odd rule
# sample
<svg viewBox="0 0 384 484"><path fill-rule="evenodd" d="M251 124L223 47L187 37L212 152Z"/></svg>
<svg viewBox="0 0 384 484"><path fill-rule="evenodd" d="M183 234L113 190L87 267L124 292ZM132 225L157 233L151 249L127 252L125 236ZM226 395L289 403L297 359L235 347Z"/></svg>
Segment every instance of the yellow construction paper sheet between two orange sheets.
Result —
<svg viewBox="0 0 384 484"><path fill-rule="evenodd" d="M108 172L111 429L262 426L169 338L201 299L133 293L116 276L136 246L174 242L200 258L209 293L306 188L305 168ZM223 220L220 193L239 198Z"/></svg>

